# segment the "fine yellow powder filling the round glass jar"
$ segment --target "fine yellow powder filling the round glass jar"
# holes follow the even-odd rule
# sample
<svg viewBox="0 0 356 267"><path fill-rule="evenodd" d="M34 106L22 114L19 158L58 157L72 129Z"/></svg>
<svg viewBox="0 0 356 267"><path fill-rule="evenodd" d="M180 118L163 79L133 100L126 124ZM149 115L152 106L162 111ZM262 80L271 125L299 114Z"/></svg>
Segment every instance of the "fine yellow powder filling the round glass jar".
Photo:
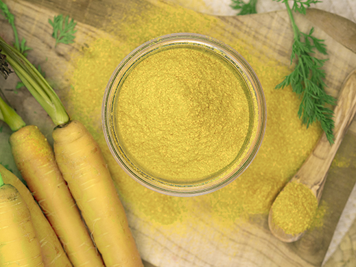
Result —
<svg viewBox="0 0 356 267"><path fill-rule="evenodd" d="M130 161L166 181L198 182L239 163L257 121L233 66L206 49L185 47L135 66L113 113Z"/></svg>

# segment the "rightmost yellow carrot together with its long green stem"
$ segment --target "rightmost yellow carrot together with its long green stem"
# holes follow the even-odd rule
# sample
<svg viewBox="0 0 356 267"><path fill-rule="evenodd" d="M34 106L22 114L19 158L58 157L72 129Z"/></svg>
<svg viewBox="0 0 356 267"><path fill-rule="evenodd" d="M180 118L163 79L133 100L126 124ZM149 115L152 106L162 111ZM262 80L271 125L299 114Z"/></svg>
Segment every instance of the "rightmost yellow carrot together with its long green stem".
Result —
<svg viewBox="0 0 356 267"><path fill-rule="evenodd" d="M57 125L53 137L58 167L106 267L143 266L99 146L81 123L69 120L54 89L19 51L2 38L0 48L16 75Z"/></svg>

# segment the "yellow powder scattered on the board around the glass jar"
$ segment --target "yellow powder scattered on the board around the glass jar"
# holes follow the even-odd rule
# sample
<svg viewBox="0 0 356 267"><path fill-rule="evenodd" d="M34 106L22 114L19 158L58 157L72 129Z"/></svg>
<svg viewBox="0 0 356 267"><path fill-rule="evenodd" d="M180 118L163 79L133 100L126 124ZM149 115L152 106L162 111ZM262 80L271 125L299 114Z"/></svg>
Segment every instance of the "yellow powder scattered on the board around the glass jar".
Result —
<svg viewBox="0 0 356 267"><path fill-rule="evenodd" d="M292 90L274 89L291 70L269 60L263 53L256 55L253 47L244 44L243 39L233 43L226 40L225 31L220 34L215 30L224 29L226 25L219 25L216 18L198 16L176 5L158 5L158 8L152 5L150 9L145 9L139 17L127 18L127 24L109 25L110 29L107 30L121 40L119 46L117 40L96 40L88 43L89 48L84 50L84 54L73 56L77 62L71 75L75 86L74 90L68 92L70 101L67 105L71 117L80 119L95 136L124 205L141 218L158 225L182 227L182 220L195 220L197 212L204 213L202 216L211 218L216 225L222 222L233 225L244 214L268 214L276 194L300 168L322 132L317 124L309 126L309 129L301 125L296 115L300 99ZM257 73L265 92L268 111L261 149L245 173L216 192L190 198L159 194L139 185L117 165L101 128L102 97L116 66L139 44L173 32L196 32L226 40ZM108 59L110 62L107 65L100 64ZM97 71L95 64L99 64L100 71ZM88 81L91 81L90 85ZM198 206L202 208L197 209Z"/></svg>

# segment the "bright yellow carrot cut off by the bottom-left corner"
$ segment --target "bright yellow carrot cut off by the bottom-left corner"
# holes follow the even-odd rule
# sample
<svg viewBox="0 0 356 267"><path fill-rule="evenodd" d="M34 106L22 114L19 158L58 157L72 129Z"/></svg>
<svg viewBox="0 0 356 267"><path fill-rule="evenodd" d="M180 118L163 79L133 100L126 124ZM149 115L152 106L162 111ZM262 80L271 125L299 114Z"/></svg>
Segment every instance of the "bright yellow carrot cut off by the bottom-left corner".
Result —
<svg viewBox="0 0 356 267"><path fill-rule="evenodd" d="M0 175L0 266L45 266L31 214L14 186Z"/></svg>

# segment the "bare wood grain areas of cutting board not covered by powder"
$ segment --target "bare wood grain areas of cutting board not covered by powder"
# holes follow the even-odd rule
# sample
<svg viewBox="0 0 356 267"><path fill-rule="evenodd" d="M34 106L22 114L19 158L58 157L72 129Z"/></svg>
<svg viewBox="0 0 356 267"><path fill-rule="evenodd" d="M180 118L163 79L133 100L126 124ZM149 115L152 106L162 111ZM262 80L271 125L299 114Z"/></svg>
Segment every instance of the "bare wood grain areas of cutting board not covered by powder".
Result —
<svg viewBox="0 0 356 267"><path fill-rule="evenodd" d="M29 60L36 66L41 64L46 71L47 79L64 100L69 103L66 95L70 88L69 81L61 79L64 72L74 67L70 54L73 51L80 53L88 43L96 38L117 38L119 42L126 42L124 33L118 32L112 36L108 30L112 25L112 15L115 15L117 25L127 21L141 19L141 13L150 10L165 12L165 6L170 5L163 1L143 0L7 0L10 10L15 15L16 25L20 36L26 38L29 47L34 51L29 53ZM187 11L188 12L188 11ZM54 49L54 40L51 38L51 27L48 19L56 14L71 16L78 21L75 43L61 45ZM191 14L191 13L189 13ZM184 18L185 11L175 14L177 20ZM202 14L194 14L201 18ZM323 14L328 18L327 14ZM320 20L318 20L318 17ZM329 16L333 25L340 25L340 19ZM261 64L268 64L274 60L289 68L289 57L292 49L292 30L289 25L287 13L271 12L241 17L217 17L219 23L205 31L227 44L241 42L251 47L251 53L261 58ZM344 35L356 29L355 24L344 23L337 31L323 30L322 16L318 11L311 18L296 14L296 22L302 31L309 31L315 27L315 35L325 39L330 60L325 65L327 71L328 92L337 97L342 81L348 73L356 68L356 55L353 51L353 42L345 41ZM144 21L143 21L144 23ZM165 23L165 21L157 21ZM119 27L119 26L117 26ZM0 34L8 42L12 42L12 29L3 17L0 18ZM132 47L133 49L134 47ZM16 79L12 77L1 84L11 105L26 115L29 123L36 123L47 133L51 139L53 124L44 112L32 101L25 90L21 90L16 97L13 94ZM34 113L36 111L36 114ZM43 119L45 118L45 119ZM353 122L355 124L355 120ZM100 121L97 121L99 127ZM356 127L352 127L342 142L338 155L355 160L353 149L356 149ZM331 168L324 186L322 200L329 204L330 213L327 215L324 227L307 233L302 240L293 244L279 242L268 229L267 214L254 216L249 223L236 223L234 229L226 233L224 229L216 227L205 210L209 206L196 203L197 212L191 225L183 228L158 227L156 224L137 216L129 205L126 212L132 233L147 266L154 264L158 267L170 266L320 266L340 218L342 209L348 195L355 184L353 176L355 166L348 168ZM340 179L342 177L342 179Z"/></svg>

